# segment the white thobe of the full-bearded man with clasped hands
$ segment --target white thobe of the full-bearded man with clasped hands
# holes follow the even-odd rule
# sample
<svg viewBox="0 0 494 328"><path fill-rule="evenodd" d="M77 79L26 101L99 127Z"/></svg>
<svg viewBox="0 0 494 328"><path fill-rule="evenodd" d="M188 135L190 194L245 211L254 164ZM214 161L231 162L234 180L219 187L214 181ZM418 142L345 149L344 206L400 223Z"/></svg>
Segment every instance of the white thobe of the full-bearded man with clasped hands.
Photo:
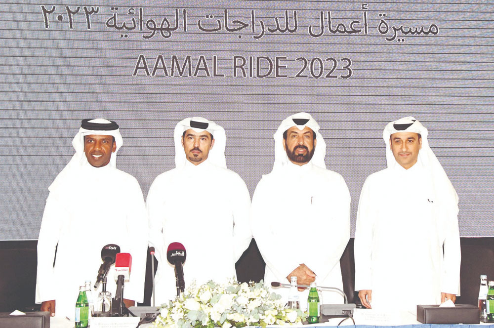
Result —
<svg viewBox="0 0 494 328"><path fill-rule="evenodd" d="M350 238L350 193L343 177L313 165L288 163L262 177L252 197L251 227L266 269L268 286L289 284L287 276L304 263L316 284L343 289L339 260ZM284 300L288 288L274 289ZM335 292L322 302L343 303ZM308 289L300 292L307 305Z"/></svg>

